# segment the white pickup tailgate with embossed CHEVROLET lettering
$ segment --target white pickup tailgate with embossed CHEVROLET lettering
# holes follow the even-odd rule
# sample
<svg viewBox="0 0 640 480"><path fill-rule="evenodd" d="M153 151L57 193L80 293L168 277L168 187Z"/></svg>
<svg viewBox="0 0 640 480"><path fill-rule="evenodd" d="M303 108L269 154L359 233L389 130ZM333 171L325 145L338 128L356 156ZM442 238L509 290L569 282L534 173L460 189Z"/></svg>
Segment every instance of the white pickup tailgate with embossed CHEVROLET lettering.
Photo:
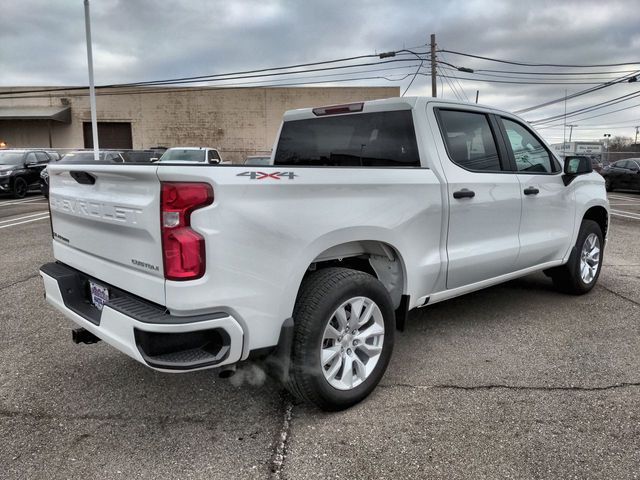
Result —
<svg viewBox="0 0 640 480"><path fill-rule="evenodd" d="M48 170L55 258L163 305L157 166L57 164Z"/></svg>

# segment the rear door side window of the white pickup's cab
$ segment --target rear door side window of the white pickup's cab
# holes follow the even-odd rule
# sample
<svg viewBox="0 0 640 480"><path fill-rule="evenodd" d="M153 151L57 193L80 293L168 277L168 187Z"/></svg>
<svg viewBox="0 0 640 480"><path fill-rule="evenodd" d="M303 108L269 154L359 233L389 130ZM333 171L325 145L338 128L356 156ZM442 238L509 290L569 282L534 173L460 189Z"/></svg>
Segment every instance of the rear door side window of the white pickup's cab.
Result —
<svg viewBox="0 0 640 480"><path fill-rule="evenodd" d="M453 163L473 172L502 171L493 131L484 113L439 109L438 115Z"/></svg>

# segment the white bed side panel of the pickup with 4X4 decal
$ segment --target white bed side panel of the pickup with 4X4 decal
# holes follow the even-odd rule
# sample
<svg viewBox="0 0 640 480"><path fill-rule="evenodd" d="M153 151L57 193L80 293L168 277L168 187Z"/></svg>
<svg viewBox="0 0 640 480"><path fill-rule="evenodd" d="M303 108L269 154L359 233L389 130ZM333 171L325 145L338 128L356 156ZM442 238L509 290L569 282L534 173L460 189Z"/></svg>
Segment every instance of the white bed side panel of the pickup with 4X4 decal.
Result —
<svg viewBox="0 0 640 480"><path fill-rule="evenodd" d="M291 172L252 178L246 172ZM300 282L323 251L375 240L399 252L406 292L431 291L441 270L440 183L425 168L171 167L160 180L209 181L214 203L192 215L207 239L207 271L166 282L174 315L228 311L245 328L245 353L277 343Z"/></svg>

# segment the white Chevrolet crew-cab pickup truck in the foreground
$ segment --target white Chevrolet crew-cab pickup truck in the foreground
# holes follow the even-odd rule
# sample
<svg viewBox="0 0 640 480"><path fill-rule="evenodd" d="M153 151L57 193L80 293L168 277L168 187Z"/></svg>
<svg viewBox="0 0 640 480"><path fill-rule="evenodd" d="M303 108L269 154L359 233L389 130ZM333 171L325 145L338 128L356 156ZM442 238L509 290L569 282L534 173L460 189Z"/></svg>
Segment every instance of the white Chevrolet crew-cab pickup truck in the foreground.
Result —
<svg viewBox="0 0 640 480"><path fill-rule="evenodd" d="M602 177L518 117L432 98L284 115L271 165L52 164L46 298L149 367L266 358L297 397L349 407L407 312L544 270L598 279Z"/></svg>

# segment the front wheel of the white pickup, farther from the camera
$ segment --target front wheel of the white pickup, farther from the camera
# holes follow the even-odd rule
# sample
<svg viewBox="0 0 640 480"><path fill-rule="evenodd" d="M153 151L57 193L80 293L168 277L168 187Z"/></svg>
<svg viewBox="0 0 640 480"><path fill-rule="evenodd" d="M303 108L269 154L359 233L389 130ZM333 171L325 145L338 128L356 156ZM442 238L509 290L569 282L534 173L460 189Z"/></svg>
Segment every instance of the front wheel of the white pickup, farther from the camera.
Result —
<svg viewBox="0 0 640 480"><path fill-rule="evenodd" d="M547 271L554 286L561 292L573 295L589 292L600 276L603 248L600 225L593 220L583 220L569 261Z"/></svg>

